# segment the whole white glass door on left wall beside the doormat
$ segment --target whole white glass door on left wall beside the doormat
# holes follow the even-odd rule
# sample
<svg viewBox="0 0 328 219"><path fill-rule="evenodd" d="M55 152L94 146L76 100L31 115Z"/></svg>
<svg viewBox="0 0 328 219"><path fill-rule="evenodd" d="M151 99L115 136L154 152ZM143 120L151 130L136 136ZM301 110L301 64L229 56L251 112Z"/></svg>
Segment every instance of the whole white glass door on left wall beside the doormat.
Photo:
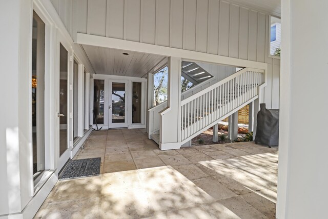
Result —
<svg viewBox="0 0 328 219"><path fill-rule="evenodd" d="M70 74L72 62L72 51L70 47L65 44L63 36L58 34L59 38L59 50L58 50L58 71L56 74L56 106L57 106L57 128L56 128L56 157L57 157L57 169L58 171L64 167L66 162L70 158L70 124L72 120L70 99L72 93L72 83L70 82Z"/></svg>

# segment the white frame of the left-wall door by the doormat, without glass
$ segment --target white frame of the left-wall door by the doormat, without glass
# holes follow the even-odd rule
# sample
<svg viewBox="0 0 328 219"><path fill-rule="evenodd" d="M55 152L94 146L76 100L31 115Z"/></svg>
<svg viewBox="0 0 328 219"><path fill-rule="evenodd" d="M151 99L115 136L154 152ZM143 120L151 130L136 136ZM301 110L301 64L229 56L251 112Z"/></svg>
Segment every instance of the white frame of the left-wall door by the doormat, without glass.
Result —
<svg viewBox="0 0 328 219"><path fill-rule="evenodd" d="M59 83L60 83L60 44L65 47L65 49L68 51L68 68L67 68L67 110L68 112L59 112ZM55 137L55 146L56 146L56 157L57 157L57 170L60 171L66 162L70 159L71 155L71 148L72 148L72 138L73 138L73 118L72 118L72 99L73 99L73 86L72 86L72 79L73 79L73 50L67 41L67 39L60 33L60 31L57 32L57 64L58 70L55 73L55 98L56 98L56 114L55 117L57 117L56 122L56 137ZM59 130L64 128L64 125L59 124L59 117L57 114L60 113L66 113L67 118L67 124L66 124L66 130L67 130L67 150L59 156Z"/></svg>

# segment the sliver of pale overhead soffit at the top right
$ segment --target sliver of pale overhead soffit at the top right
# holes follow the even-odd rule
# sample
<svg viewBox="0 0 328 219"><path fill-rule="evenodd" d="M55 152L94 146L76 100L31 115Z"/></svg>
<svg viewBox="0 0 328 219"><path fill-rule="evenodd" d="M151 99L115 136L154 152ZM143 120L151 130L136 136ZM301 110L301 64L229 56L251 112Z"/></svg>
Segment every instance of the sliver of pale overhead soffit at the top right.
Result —
<svg viewBox="0 0 328 219"><path fill-rule="evenodd" d="M252 8L277 17L281 16L280 0L225 0L240 6Z"/></svg>

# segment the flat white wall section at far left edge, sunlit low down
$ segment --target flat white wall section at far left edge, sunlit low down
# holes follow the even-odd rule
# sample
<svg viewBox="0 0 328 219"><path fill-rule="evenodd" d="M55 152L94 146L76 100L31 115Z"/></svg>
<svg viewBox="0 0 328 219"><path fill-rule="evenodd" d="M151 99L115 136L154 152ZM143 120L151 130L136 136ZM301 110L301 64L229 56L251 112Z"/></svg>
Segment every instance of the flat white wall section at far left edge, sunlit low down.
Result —
<svg viewBox="0 0 328 219"><path fill-rule="evenodd" d="M0 5L0 215L18 218L33 196L32 1Z"/></svg>

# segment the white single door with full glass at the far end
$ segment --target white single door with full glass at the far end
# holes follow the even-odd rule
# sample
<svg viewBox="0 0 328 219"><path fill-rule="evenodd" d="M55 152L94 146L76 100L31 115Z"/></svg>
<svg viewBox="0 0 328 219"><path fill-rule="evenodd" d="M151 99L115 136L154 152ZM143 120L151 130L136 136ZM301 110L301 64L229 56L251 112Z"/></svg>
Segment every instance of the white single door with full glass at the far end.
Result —
<svg viewBox="0 0 328 219"><path fill-rule="evenodd" d="M128 127L128 81L109 80L108 128Z"/></svg>

